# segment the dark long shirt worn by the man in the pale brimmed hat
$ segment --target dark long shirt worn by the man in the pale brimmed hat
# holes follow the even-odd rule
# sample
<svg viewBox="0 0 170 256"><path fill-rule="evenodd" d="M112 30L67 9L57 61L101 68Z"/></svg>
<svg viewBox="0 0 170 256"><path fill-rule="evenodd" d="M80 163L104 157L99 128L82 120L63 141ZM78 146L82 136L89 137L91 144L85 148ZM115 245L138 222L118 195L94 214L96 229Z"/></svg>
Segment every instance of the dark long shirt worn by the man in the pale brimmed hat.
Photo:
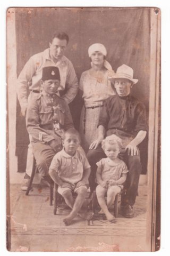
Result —
<svg viewBox="0 0 170 256"><path fill-rule="evenodd" d="M132 95L113 95L105 100L99 117L107 135L116 134L135 137L139 131L147 131L145 106Z"/></svg>

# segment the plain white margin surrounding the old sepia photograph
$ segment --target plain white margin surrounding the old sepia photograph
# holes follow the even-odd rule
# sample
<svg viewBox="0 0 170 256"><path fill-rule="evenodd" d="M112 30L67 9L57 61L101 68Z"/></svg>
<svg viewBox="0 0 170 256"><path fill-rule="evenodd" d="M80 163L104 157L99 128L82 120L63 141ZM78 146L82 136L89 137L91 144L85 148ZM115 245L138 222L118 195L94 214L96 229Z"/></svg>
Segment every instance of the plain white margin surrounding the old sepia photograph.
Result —
<svg viewBox="0 0 170 256"><path fill-rule="evenodd" d="M168 79L168 74L169 74L169 45L170 45L170 40L169 40L169 24L170 24L170 4L169 3L163 3L163 1L86 1L86 4L82 4L82 1L72 1L72 5L70 5L69 1L62 1L59 3L58 1L48 0L48 1L43 1L39 3L38 1L35 3L35 1L30 0L29 5L28 2L23 2L23 1L12 1L12 0L7 0L5 1L4 4L1 4L1 34L2 34L2 39L1 39L1 56L3 58L1 59L1 63L6 63L6 9L7 7L13 7L13 6L33 6L33 7L43 7L43 6L124 6L124 7L129 7L129 6L143 6L143 7L151 7L155 6L160 8L161 10L161 16L162 16L162 227L161 227L161 246L160 250L156 252L157 254L161 253L168 253L169 252L169 205L168 205L168 195L169 195L169 165L168 165L168 146L169 146L169 120L168 118L168 102L169 102L169 79ZM12 252L7 252L6 251L6 237L4 236L4 231L6 229L6 197L5 197L5 191L6 191L6 173L5 173L5 166L6 166L6 153L5 153L5 148L6 148L6 142L5 142L5 134L6 134L6 65L1 65L1 93L0 93L0 102L1 102L1 204L4 206L2 208L2 214L3 218L1 218L1 253L2 255L8 255L8 253ZM166 234L167 232L167 234ZM41 254L36 253L37 255ZM13 254L13 253L12 253ZM45 253L46 254L46 253ZM48 252L48 255L51 254ZM99 255L100 253L93 253L93 255ZM108 255L111 253L107 253ZM115 253L114 253L115 254ZM118 253L117 255L120 255L122 253ZM138 253L139 254L139 253ZM141 254L141 253L140 253ZM146 253L145 253L146 254ZM22 252L19 254L15 253L15 255L22 255ZM23 254L25 255L25 254ZM59 254L58 254L59 255ZM70 255L67 253L64 253L64 255ZM85 253L84 253L85 255ZM87 254L88 255L88 254Z"/></svg>

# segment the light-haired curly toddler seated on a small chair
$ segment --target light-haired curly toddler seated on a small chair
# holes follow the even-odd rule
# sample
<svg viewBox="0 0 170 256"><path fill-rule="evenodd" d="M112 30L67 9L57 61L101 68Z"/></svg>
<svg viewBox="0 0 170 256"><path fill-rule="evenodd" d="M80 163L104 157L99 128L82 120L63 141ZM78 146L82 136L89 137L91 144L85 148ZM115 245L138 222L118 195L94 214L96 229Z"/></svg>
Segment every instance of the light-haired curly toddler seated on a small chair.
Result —
<svg viewBox="0 0 170 256"><path fill-rule="evenodd" d="M107 158L101 159L97 164L98 169L96 178L98 186L96 188L96 195L98 203L101 207L99 213L105 213L106 219L115 222L114 215L109 212L109 207L115 201L115 196L121 192L123 183L126 180L128 168L126 164L117 156L122 147L122 141L116 135L106 137L101 143ZM107 202L105 195L107 193Z"/></svg>

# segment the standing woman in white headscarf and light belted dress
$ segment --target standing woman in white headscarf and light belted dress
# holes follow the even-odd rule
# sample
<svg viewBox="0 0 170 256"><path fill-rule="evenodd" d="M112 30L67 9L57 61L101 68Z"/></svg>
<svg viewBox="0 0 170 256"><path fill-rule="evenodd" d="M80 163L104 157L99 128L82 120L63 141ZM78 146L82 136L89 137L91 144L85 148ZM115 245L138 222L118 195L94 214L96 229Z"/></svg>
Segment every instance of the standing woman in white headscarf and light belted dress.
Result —
<svg viewBox="0 0 170 256"><path fill-rule="evenodd" d="M84 71L80 78L80 92L84 106L80 117L80 135L82 147L87 153L90 144L98 137L98 121L103 101L114 95L111 82L113 70L105 60L107 51L103 44L92 44L88 50L91 69Z"/></svg>

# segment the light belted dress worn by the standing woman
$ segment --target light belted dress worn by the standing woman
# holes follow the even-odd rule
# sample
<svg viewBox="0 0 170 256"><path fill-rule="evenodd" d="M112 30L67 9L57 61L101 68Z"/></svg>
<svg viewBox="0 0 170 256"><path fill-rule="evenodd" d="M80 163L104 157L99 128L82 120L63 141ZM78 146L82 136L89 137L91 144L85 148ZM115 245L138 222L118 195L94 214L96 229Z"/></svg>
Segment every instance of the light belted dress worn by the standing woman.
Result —
<svg viewBox="0 0 170 256"><path fill-rule="evenodd" d="M80 78L80 90L83 91L84 100L80 117L80 135L81 145L86 153L90 144L98 137L97 125L103 101L115 94L108 80L108 70L100 73L98 77L91 75L90 70L84 71Z"/></svg>

